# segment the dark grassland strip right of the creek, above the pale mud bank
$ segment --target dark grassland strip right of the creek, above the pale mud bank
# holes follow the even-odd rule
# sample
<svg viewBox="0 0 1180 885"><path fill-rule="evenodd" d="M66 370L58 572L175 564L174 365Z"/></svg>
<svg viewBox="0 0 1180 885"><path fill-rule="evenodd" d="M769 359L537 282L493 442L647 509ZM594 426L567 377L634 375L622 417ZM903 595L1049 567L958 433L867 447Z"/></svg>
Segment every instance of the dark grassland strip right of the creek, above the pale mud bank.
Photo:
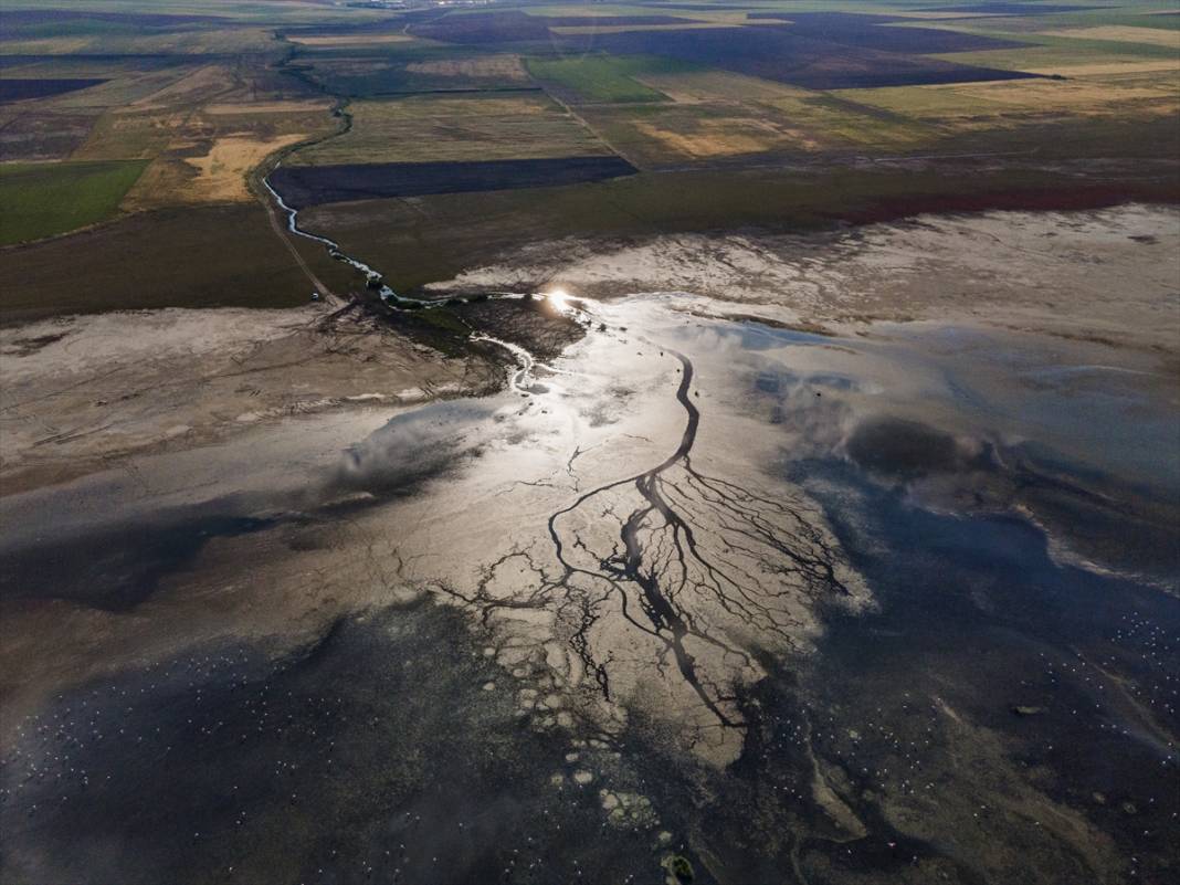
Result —
<svg viewBox="0 0 1180 885"><path fill-rule="evenodd" d="M1171 120L1143 124L1135 142L1143 156L1180 149ZM986 168L966 159L897 175L891 168L820 166L809 171L701 169L641 173L595 184L480 194L380 199L304 210L302 222L337 240L346 251L386 269L395 291L411 294L465 269L512 256L526 243L563 237L650 236L667 231L761 228L824 229L838 222L873 222L920 212L1053 209L1112 205L1128 199L1180 198L1150 164L1136 175L1104 172L1081 182L1037 162L1109 156L1126 150L1126 129L1094 120L1073 127L972 132L944 140L948 155L1024 152L1032 165ZM1029 149L1036 148L1037 153ZM538 281L543 282L543 281ZM524 284L524 283L522 283Z"/></svg>

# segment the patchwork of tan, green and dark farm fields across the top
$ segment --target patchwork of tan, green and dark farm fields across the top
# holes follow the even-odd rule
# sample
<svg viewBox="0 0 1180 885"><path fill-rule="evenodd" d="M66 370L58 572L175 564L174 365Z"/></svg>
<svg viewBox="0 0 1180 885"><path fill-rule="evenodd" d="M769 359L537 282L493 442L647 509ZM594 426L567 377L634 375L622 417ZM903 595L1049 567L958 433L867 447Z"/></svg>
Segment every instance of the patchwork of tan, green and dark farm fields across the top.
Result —
<svg viewBox="0 0 1180 885"><path fill-rule="evenodd" d="M648 176L690 170L750 169L773 184L804 166L906 157L1020 166L1069 162L1066 137L1079 156L1114 151L1114 165L1132 162L1130 143L1134 162L1163 163L1180 113L1180 15L1166 12L1089 0L186 0L166 12L46 0L0 24L0 160L57 164L61 181L138 170L105 191L107 225L237 205L266 227L274 206L256 179L280 160L276 183L309 204L412 199L428 212L447 195L499 192L489 189L522 206L556 192L611 202L579 204L575 227L620 218L617 195L647 192ZM1133 130L1142 138L1114 137ZM760 223L775 212L800 217L767 210ZM723 225L725 212L708 216ZM11 236L93 217L79 206ZM339 217L323 217L330 235ZM531 236L522 218L511 223ZM427 253L399 273L427 280Z"/></svg>

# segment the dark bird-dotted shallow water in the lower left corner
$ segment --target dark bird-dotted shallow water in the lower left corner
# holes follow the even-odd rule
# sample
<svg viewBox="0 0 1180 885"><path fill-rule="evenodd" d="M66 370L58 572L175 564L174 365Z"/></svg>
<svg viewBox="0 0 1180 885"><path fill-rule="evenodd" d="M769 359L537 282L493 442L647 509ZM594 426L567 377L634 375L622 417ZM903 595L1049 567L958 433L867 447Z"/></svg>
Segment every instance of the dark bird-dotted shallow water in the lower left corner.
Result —
<svg viewBox="0 0 1180 885"><path fill-rule="evenodd" d="M422 602L64 695L2 763L5 880L628 880L650 837L602 838L597 785L551 782L569 746L506 678Z"/></svg>

